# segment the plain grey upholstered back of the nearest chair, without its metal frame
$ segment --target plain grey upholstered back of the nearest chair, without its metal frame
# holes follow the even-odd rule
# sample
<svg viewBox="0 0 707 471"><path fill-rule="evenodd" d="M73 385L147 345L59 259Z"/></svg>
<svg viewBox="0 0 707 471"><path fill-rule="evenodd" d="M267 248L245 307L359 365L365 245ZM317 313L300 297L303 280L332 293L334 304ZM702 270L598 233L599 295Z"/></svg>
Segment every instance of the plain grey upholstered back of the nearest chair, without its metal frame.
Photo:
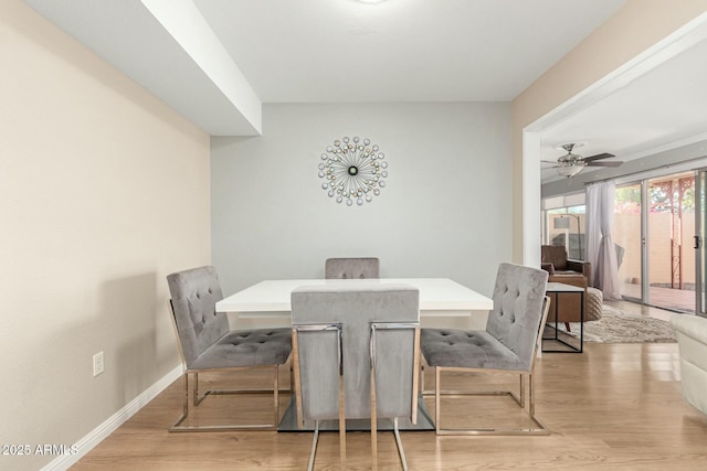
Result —
<svg viewBox="0 0 707 471"><path fill-rule="evenodd" d="M411 286L303 286L292 292L293 325L342 324L346 418L350 419L369 418L371 414L370 323L419 321L420 295ZM392 343L378 352L378 416L404 416L401 407L407 407L409 416L414 395L412 333L392 332L387 336ZM337 356L331 352L336 352L336 336L299 333L300 398L306 419L338 417Z"/></svg>

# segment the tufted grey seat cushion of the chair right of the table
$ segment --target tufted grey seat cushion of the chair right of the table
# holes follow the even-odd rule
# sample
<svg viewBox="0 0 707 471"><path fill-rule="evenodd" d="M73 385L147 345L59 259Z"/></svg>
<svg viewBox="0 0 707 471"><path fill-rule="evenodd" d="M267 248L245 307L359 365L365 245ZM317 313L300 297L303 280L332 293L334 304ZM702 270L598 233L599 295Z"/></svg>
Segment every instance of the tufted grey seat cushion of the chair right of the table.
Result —
<svg viewBox="0 0 707 471"><path fill-rule="evenodd" d="M430 366L525 370L518 356L486 331L422 329L420 345Z"/></svg>

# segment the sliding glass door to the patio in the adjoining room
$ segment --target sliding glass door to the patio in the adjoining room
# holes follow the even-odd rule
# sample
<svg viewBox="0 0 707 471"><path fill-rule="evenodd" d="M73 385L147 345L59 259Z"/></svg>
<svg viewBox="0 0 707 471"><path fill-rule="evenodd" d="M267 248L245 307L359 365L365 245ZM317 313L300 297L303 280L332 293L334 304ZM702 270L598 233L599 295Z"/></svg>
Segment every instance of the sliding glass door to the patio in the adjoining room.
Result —
<svg viewBox="0 0 707 471"><path fill-rule="evenodd" d="M697 256L693 248L705 225L697 216L705 211L697 197L705 197L705 176L696 181L695 175L674 173L616 188L612 236L624 298L682 312L695 312L696 304L707 309L704 247Z"/></svg>

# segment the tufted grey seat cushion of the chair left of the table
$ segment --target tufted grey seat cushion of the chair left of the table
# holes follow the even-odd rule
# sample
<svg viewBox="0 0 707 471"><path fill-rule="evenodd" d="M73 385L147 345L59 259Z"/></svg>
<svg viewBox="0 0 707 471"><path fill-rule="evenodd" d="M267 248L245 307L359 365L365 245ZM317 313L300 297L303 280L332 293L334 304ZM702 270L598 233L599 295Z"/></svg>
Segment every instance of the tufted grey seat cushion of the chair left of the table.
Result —
<svg viewBox="0 0 707 471"><path fill-rule="evenodd" d="M282 365L292 352L292 333L285 329L230 331L208 347L190 370Z"/></svg>

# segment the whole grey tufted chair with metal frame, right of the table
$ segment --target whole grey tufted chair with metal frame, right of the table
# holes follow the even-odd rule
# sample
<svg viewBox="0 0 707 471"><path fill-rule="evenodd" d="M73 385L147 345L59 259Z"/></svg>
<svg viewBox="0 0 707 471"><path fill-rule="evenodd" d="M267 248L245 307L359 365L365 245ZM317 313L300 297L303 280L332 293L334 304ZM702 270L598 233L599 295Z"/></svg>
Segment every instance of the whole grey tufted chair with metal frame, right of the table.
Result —
<svg viewBox="0 0 707 471"><path fill-rule="evenodd" d="M435 427L437 435L516 435L549 433L535 417L532 373L540 344L549 299L545 296L547 271L500 264L494 288L494 309L486 330L422 329L421 351L426 365L435 368ZM442 372L519 374L519 396L513 392L446 393L442 390ZM510 395L525 408L524 377L528 378L529 416L534 427L527 429L449 429L441 424L441 396L483 394Z"/></svg>

